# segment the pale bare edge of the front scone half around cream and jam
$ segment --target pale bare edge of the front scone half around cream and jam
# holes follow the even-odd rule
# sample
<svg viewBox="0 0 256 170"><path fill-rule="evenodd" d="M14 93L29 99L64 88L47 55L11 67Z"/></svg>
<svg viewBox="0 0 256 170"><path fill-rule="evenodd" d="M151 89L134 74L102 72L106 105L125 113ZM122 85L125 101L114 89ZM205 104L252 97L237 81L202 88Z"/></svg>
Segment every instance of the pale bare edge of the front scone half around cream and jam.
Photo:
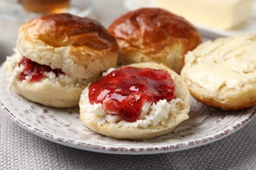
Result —
<svg viewBox="0 0 256 170"><path fill-rule="evenodd" d="M169 133L176 126L178 126L183 120L188 118L188 112L190 110L190 93L188 92L188 88L186 84L182 80L181 76L177 75L175 71L169 69L165 65L158 63L135 63L129 65L131 67L139 67L146 68L150 67L152 69L162 69L168 71L171 77L173 78L173 82L175 84L175 94L177 98L182 99L183 103L177 107L179 109L175 113L168 114L168 118L165 120L166 124L158 124L157 126L147 126L146 128L142 127L125 127L119 126L116 123L110 122L106 124L98 124L98 116L94 114L90 114L88 112L89 108L85 103L89 103L88 97L88 88L85 88L81 94L81 99L79 101L80 106L80 118L85 126L89 127L96 133L100 133L102 135L106 135L108 137L114 137L117 139L148 139L152 137L156 137L159 135L163 135ZM93 105L91 105L93 106ZM100 117L104 118L104 117Z"/></svg>

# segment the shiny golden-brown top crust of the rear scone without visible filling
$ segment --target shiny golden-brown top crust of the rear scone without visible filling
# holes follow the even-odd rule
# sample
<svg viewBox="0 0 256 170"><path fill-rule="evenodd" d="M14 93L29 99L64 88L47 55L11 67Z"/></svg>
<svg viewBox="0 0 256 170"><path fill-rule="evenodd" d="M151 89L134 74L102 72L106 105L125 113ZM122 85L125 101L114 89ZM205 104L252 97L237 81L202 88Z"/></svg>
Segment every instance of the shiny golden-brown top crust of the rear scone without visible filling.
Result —
<svg viewBox="0 0 256 170"><path fill-rule="evenodd" d="M156 54L165 46L174 44L177 39L184 39L187 50L194 49L201 42L200 35L192 24L171 12L157 8L128 12L117 18L108 27L108 31L116 39L140 48L144 54Z"/></svg>

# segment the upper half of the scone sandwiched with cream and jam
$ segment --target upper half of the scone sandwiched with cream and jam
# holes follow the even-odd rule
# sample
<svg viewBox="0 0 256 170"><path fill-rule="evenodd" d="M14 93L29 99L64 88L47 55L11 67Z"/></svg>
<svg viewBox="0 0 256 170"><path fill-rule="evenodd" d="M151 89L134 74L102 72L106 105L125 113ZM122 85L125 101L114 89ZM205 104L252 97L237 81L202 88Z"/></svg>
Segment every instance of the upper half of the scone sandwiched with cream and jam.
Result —
<svg viewBox="0 0 256 170"><path fill-rule="evenodd" d="M16 48L26 58L68 75L91 78L116 65L116 39L95 20L47 14L19 29Z"/></svg>

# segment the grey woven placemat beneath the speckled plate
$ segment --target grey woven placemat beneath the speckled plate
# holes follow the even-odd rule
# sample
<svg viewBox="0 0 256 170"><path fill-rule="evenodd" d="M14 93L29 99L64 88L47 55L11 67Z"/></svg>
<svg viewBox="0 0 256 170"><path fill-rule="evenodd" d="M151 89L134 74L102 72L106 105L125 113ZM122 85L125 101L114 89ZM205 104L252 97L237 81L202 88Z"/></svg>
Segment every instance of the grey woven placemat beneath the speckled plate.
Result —
<svg viewBox="0 0 256 170"><path fill-rule="evenodd" d="M77 150L32 135L0 113L0 169L256 169L256 119L199 148L154 155Z"/></svg>

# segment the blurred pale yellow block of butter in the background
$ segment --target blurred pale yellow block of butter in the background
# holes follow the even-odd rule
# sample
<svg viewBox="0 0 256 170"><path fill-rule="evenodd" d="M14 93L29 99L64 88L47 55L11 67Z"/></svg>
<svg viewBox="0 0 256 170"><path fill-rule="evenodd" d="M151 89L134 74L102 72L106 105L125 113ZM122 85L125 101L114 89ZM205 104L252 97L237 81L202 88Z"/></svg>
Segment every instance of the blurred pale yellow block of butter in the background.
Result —
<svg viewBox="0 0 256 170"><path fill-rule="evenodd" d="M247 22L253 0L156 0L157 6L169 10L193 24L213 29L231 29Z"/></svg>

